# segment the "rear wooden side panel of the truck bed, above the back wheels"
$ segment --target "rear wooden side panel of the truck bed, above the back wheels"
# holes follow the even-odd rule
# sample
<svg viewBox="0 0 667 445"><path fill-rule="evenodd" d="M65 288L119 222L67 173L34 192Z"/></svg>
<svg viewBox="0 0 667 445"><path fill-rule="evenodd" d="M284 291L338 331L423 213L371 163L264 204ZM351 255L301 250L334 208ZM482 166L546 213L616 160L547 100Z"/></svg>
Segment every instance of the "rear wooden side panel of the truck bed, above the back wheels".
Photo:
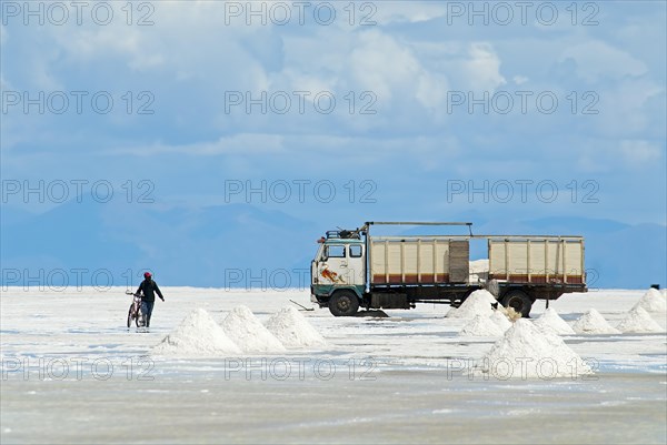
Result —
<svg viewBox="0 0 667 445"><path fill-rule="evenodd" d="M489 279L517 283L584 284L584 239L579 236L494 237Z"/></svg>

